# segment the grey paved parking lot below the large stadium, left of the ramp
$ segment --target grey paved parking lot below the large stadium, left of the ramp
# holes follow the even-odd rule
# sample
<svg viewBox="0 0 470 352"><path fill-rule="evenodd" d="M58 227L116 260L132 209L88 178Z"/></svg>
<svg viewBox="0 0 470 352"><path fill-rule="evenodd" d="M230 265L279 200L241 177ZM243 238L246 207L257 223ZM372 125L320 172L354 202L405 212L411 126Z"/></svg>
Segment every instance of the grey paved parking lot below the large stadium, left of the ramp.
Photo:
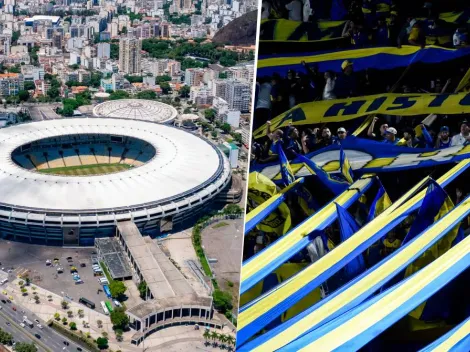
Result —
<svg viewBox="0 0 470 352"><path fill-rule="evenodd" d="M62 292L78 302L80 297L89 298L95 303L104 300L104 292L98 293L102 286L97 277L93 276L91 257L94 248L69 249L61 247L46 247L25 243L0 240L0 263L5 270L11 270L11 274L18 276L28 272L31 282L58 295ZM67 257L72 257L68 262ZM59 259L60 267L64 269L57 273L57 266L46 265L46 260ZM80 267L84 262L86 267ZM71 266L77 268L83 284L76 285L70 272Z"/></svg>

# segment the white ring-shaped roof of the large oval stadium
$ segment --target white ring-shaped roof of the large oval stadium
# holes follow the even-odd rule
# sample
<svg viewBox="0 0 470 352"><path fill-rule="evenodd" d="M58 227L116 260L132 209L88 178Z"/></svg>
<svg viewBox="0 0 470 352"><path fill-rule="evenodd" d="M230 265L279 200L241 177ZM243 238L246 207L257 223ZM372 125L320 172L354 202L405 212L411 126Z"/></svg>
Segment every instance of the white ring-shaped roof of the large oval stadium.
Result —
<svg viewBox="0 0 470 352"><path fill-rule="evenodd" d="M11 158L16 148L39 139L87 133L138 138L152 144L157 153L142 166L95 176L29 171ZM208 194L215 187L215 179L228 178L227 169L225 157L205 140L143 121L71 118L0 130L0 205L65 212L134 209L142 204L191 197L197 192Z"/></svg>

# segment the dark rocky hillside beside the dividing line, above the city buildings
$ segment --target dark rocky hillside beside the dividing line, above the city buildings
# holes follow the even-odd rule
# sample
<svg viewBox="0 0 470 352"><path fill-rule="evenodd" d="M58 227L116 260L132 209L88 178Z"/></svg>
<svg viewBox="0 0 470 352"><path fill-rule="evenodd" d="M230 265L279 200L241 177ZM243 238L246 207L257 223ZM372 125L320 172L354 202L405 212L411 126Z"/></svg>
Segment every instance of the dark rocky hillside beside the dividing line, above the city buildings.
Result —
<svg viewBox="0 0 470 352"><path fill-rule="evenodd" d="M230 45L255 45L257 18L258 11L245 13L222 27L212 41Z"/></svg>

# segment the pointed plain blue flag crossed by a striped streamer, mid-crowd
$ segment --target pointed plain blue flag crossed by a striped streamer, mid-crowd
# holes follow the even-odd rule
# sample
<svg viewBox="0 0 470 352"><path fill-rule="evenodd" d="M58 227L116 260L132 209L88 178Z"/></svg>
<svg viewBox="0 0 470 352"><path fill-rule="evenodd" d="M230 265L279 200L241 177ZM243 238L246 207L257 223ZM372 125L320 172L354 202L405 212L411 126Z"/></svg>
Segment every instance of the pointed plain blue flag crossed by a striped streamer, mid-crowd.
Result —
<svg viewBox="0 0 470 352"><path fill-rule="evenodd" d="M335 204L336 211L338 212L339 234L341 242L344 242L359 230L359 225L346 209L337 203ZM366 264L362 254L359 254L344 267L344 272L348 280L355 278L364 271L366 271Z"/></svg>

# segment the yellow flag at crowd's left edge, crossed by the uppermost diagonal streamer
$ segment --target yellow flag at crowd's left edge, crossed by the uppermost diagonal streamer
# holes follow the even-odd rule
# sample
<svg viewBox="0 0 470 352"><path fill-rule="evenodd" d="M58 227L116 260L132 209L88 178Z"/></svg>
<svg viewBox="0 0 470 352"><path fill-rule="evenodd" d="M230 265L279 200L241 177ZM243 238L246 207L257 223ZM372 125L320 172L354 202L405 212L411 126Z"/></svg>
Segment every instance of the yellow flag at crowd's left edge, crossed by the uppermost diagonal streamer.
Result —
<svg viewBox="0 0 470 352"><path fill-rule="evenodd" d="M257 172L250 173L248 178L247 211L252 211L277 193L277 186L270 179ZM272 211L256 227L261 231L274 233L278 236L285 234L291 227L289 207L285 203L281 203L277 209Z"/></svg>

